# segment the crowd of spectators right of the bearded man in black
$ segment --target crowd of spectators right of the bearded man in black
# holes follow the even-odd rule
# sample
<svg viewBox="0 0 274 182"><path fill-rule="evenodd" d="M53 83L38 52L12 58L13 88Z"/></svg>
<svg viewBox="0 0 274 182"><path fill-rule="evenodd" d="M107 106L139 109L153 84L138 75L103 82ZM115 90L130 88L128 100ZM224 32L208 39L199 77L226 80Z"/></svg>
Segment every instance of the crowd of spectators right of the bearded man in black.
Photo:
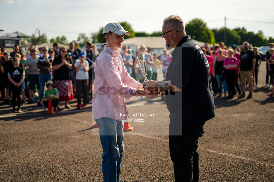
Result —
<svg viewBox="0 0 274 182"><path fill-rule="evenodd" d="M274 44L269 43L269 47L270 50L266 53L265 87L273 88ZM210 65L211 88L214 96L224 95L225 98L232 99L238 92L239 98L245 98L245 91L248 89L247 99L249 99L253 97L253 87L260 87L258 72L262 60L258 48L252 47L252 44L245 41L242 49L235 44L226 47L223 42L213 45L212 50L208 43L202 48ZM274 89L268 95L274 95Z"/></svg>

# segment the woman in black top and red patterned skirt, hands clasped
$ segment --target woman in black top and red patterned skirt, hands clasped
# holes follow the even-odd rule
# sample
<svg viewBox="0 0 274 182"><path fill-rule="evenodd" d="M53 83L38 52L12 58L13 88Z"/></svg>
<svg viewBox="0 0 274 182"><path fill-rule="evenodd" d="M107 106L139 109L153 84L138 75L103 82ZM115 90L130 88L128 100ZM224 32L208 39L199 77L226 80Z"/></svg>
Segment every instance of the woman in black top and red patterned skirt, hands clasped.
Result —
<svg viewBox="0 0 274 182"><path fill-rule="evenodd" d="M65 47L60 48L60 54L54 58L52 69L54 71L53 79L59 92L59 101L65 101L65 108L71 108L68 101L73 99L72 73L74 63L68 58L68 51ZM59 107L59 104L58 104Z"/></svg>

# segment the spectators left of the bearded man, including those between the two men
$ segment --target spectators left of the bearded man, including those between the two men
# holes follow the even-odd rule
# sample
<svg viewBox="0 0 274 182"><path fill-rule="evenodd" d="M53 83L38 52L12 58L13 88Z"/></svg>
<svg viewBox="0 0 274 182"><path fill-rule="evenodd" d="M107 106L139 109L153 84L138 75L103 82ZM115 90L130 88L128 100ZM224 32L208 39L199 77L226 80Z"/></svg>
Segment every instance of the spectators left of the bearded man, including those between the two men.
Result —
<svg viewBox="0 0 274 182"><path fill-rule="evenodd" d="M103 46L101 51L104 49ZM77 108L85 108L86 104L93 98L95 79L93 67L99 55L96 45L91 41L87 41L85 47L85 50L81 50L77 47L77 42L72 41L69 43L68 49L60 47L59 43L54 43L53 49L49 49L47 46L31 46L26 52L20 50L18 45L15 45L10 53L2 48L0 55L0 93L1 100L4 100L2 104L9 104L11 101L12 105L15 106L17 103L18 109L13 107L13 112L21 112L20 106L27 103L37 103L37 107L45 109L48 105L48 99L51 97L54 110L59 111L61 101L64 101L65 108L71 108L68 101L76 97ZM162 67L163 73L165 73L172 56L165 49L158 56L146 45L138 47L136 54L133 55L130 46L123 45L121 56L127 72L141 83L144 81L144 76L137 59L137 55L141 52L145 52L148 79L157 80L158 73L162 72ZM8 75L17 63L17 59L15 62L13 60L15 57L19 60L18 68L16 68L17 70L19 67L22 68L22 74L21 70L18 71L20 76L24 77L22 81L14 80L18 83L21 81L20 87L16 88L16 91L15 87L19 84L16 82L14 85L13 81L10 81L10 79L13 80L13 75ZM19 88L20 99L18 97ZM49 88L50 92L47 91Z"/></svg>

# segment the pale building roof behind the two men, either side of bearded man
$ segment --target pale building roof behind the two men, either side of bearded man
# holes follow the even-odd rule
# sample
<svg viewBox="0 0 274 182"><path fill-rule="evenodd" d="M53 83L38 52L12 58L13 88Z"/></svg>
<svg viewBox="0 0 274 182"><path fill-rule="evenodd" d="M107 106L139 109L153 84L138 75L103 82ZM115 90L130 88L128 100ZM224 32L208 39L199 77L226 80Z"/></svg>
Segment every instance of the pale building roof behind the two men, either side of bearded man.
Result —
<svg viewBox="0 0 274 182"><path fill-rule="evenodd" d="M199 47L203 47L205 45L204 42L200 42L197 40L193 40ZM127 44L134 44L135 46L141 46L141 45L146 45L151 48L164 48L165 47L165 39L162 37L133 37L129 39L124 39L123 42L124 45Z"/></svg>

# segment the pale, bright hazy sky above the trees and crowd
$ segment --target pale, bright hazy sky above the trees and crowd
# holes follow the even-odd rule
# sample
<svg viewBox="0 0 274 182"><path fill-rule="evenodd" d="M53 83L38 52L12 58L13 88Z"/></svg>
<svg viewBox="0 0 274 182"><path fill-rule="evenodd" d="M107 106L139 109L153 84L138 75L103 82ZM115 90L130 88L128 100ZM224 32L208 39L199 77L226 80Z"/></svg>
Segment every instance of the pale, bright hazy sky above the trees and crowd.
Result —
<svg viewBox="0 0 274 182"><path fill-rule="evenodd" d="M90 36L110 22L127 21L136 32L161 31L163 19L174 14L185 23L200 18L208 28L224 27L226 16L228 28L245 26L247 31L262 30L266 37L274 37L273 5L273 0L0 0L0 28L3 33L29 35L39 28L48 39L65 35L72 41L79 33Z"/></svg>

